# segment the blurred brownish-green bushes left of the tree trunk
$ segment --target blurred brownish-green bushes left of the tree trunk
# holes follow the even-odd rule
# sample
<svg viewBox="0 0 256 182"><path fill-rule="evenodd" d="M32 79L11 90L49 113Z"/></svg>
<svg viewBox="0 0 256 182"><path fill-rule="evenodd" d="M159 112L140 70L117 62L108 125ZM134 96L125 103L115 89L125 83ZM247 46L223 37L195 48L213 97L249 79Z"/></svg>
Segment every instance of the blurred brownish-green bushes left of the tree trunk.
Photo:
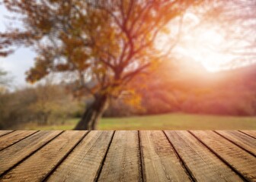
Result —
<svg viewBox="0 0 256 182"><path fill-rule="evenodd" d="M0 93L0 129L27 123L58 124L80 115L79 109L84 107L62 85L39 85Z"/></svg>

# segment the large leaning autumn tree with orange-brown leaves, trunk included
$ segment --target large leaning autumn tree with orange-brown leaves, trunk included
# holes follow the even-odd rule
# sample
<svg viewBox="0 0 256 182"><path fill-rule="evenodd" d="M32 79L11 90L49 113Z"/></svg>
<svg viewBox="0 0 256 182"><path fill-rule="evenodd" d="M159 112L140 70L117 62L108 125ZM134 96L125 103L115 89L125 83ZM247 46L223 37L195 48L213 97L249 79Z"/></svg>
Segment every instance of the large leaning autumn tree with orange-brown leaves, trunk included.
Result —
<svg viewBox="0 0 256 182"><path fill-rule="evenodd" d="M108 99L120 96L133 77L161 60L154 44L158 33L197 2L5 0L23 26L0 34L0 55L9 55L14 45L33 47L31 83L51 73L71 75L76 93L94 98L75 129L94 130Z"/></svg>

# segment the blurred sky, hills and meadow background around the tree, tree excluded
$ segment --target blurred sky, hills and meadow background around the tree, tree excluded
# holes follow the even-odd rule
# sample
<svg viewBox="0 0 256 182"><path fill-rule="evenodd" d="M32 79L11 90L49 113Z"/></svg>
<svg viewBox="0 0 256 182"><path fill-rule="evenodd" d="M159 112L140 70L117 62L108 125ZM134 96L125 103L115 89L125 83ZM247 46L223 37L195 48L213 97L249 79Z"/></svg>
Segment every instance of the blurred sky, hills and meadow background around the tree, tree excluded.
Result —
<svg viewBox="0 0 256 182"><path fill-rule="evenodd" d="M0 4L2 47L5 33L28 26L28 15L22 19L8 7L17 8L15 3ZM118 96L109 96L97 129L256 130L255 8L256 1L235 0L188 5L152 39L165 57ZM15 42L14 36L8 39ZM37 49L22 42L8 46L14 52L0 57L0 129L74 129L93 105L94 93L81 92L77 80L62 73L30 83ZM90 78L85 86L94 90L98 81Z"/></svg>

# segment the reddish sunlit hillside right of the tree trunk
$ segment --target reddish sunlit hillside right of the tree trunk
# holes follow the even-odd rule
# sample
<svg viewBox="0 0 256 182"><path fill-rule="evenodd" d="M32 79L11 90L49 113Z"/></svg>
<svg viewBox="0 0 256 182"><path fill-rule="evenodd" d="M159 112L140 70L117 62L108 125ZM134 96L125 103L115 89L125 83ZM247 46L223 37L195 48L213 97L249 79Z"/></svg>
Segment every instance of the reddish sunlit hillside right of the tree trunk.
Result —
<svg viewBox="0 0 256 182"><path fill-rule="evenodd" d="M143 115L172 111L256 115L254 78L256 64L211 73L200 64L188 64L186 61L171 64L170 61L163 61L146 80L138 78L133 81L142 96L144 111L132 112ZM146 84L146 88L140 87L141 83ZM119 108L120 113L122 108L128 111L123 103L114 107Z"/></svg>

